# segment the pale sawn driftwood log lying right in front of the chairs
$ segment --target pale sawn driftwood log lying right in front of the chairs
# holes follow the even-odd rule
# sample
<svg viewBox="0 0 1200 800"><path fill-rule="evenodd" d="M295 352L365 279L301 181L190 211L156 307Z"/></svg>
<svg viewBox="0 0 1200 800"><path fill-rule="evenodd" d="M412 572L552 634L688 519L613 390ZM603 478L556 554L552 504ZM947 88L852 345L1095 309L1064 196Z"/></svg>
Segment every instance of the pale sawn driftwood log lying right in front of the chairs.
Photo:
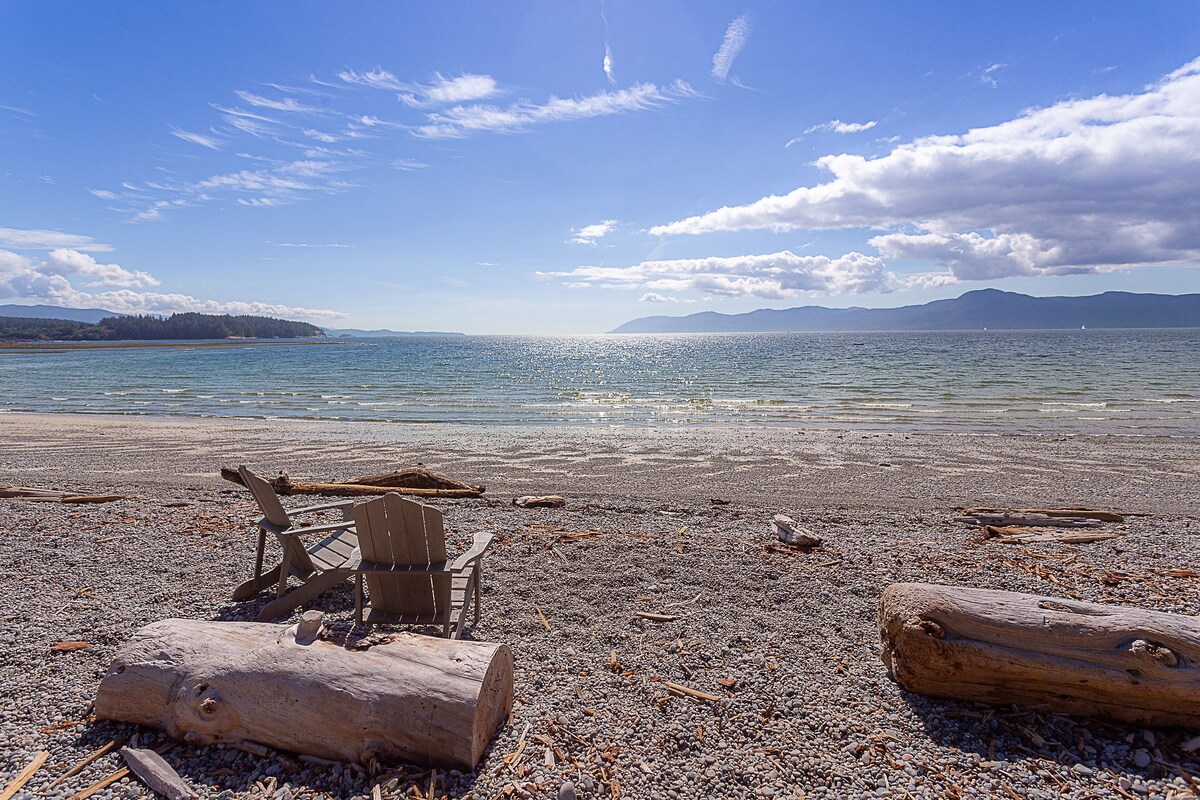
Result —
<svg viewBox="0 0 1200 800"><path fill-rule="evenodd" d="M96 716L192 744L253 741L371 763L474 769L512 709L503 644L402 633L367 650L302 645L259 622L169 619L118 651Z"/></svg>

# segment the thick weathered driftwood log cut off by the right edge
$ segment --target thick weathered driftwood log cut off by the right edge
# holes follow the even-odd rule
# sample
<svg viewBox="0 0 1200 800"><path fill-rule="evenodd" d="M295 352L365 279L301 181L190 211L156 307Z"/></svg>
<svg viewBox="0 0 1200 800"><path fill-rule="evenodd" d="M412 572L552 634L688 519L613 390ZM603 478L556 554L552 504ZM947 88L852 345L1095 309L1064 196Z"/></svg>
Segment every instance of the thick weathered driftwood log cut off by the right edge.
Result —
<svg viewBox="0 0 1200 800"><path fill-rule="evenodd" d="M1200 728L1200 620L1012 591L898 583L883 662L905 688Z"/></svg>

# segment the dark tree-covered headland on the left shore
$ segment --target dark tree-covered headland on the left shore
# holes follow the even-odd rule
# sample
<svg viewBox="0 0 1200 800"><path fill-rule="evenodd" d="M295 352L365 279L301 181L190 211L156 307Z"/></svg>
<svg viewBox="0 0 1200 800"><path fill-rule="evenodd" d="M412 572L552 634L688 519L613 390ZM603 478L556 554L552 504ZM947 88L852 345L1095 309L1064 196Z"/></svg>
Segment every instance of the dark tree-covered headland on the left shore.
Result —
<svg viewBox="0 0 1200 800"><path fill-rule="evenodd" d="M271 317L198 314L106 317L98 323L0 317L0 341L112 342L122 339L310 338L325 332L308 323Z"/></svg>

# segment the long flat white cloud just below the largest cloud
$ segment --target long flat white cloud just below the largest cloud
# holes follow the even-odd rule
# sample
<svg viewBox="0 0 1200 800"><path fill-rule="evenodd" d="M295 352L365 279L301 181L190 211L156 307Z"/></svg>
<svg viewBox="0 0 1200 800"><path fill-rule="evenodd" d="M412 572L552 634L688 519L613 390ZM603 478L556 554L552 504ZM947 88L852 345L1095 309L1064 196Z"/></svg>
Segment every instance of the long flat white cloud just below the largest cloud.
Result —
<svg viewBox="0 0 1200 800"><path fill-rule="evenodd" d="M540 272L566 278L569 285L698 291L727 297L780 300L804 291L860 294L892 291L901 283L874 255L846 253L797 255L791 251L762 255L685 258L642 261L632 266L578 266L565 272ZM644 297L643 297L644 299Z"/></svg>

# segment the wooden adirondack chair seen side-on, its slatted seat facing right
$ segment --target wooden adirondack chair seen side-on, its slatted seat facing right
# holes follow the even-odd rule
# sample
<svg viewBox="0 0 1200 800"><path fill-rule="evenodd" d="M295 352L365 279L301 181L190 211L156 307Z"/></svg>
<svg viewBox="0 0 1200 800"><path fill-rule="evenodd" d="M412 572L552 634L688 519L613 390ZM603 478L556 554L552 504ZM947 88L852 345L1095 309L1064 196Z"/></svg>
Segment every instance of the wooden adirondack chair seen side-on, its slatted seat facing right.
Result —
<svg viewBox="0 0 1200 800"><path fill-rule="evenodd" d="M248 600L278 581L276 597L263 607L258 614L258 621L268 622L281 616L354 576L354 569L359 563L359 541L354 535L354 522L350 512L354 506L353 500L324 503L288 512L270 483L245 467L239 467L238 473L246 488L254 495L254 501L263 511L263 518L258 521L254 577L234 589L233 599ZM340 509L342 522L305 528L292 521L292 515L329 509ZM263 572L263 553L269 533L275 534L278 540L280 547L283 549L283 559L278 566ZM306 547L301 537L317 537L317 541ZM292 576L304 583L288 591L288 578Z"/></svg>

